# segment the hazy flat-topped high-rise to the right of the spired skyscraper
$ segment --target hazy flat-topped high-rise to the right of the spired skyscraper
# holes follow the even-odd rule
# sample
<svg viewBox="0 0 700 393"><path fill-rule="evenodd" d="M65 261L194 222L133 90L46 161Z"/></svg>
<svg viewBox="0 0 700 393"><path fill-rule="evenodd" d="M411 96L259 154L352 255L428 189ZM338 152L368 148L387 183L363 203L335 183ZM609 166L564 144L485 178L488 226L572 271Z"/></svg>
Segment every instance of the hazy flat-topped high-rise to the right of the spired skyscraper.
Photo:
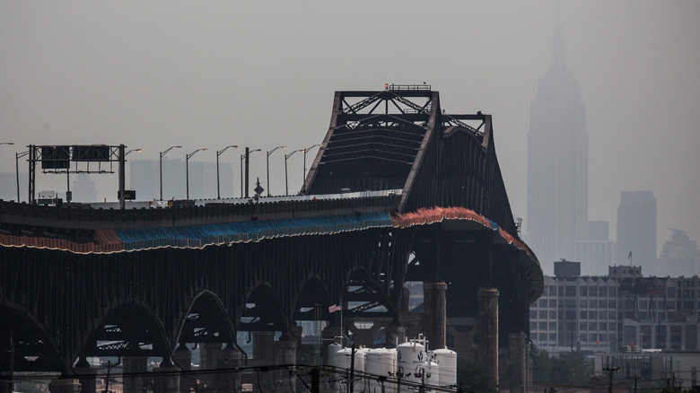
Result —
<svg viewBox="0 0 700 393"><path fill-rule="evenodd" d="M663 274L656 260L656 198L652 191L622 191L617 206L617 261ZM668 272L667 272L668 274Z"/></svg>

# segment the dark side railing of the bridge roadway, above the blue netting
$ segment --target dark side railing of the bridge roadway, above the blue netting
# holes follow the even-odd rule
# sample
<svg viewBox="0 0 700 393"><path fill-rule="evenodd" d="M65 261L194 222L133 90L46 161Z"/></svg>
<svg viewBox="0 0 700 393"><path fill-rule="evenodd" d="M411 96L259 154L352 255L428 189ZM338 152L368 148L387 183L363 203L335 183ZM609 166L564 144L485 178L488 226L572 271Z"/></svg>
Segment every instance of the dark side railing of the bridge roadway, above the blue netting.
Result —
<svg viewBox="0 0 700 393"><path fill-rule="evenodd" d="M123 210L18 204L0 200L0 229L8 231L12 226L76 230L166 228L211 223L283 220L393 212L398 208L399 200L400 196L389 195Z"/></svg>

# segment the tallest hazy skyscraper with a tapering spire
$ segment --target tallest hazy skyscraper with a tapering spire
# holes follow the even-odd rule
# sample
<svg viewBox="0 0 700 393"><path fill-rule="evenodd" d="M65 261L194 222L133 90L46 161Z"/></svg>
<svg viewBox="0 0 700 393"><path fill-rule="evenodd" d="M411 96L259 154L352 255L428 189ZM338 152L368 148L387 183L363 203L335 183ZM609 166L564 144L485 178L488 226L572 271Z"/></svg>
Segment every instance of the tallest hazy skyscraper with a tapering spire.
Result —
<svg viewBox="0 0 700 393"><path fill-rule="evenodd" d="M588 133L578 83L555 31L552 60L530 107L527 240L547 272L587 240Z"/></svg>

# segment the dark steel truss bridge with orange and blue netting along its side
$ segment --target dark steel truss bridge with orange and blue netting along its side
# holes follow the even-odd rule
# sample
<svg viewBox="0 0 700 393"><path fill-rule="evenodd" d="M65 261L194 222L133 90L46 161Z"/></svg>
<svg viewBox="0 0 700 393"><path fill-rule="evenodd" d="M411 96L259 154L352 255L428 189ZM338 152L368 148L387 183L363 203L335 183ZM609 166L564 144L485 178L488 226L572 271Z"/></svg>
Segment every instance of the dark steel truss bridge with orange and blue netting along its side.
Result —
<svg viewBox="0 0 700 393"><path fill-rule="evenodd" d="M497 352L508 359L512 335L528 334L542 271L518 237L490 115L444 113L421 85L336 92L300 194L319 197L114 210L0 202L0 370L72 375L90 356L168 360L192 343L255 361L239 332L277 332L310 364L297 322L325 320L324 336L338 336L328 307L339 301L358 345L423 332L477 360L479 288L499 292ZM424 283L417 310L407 282ZM508 370L497 372L519 372Z"/></svg>

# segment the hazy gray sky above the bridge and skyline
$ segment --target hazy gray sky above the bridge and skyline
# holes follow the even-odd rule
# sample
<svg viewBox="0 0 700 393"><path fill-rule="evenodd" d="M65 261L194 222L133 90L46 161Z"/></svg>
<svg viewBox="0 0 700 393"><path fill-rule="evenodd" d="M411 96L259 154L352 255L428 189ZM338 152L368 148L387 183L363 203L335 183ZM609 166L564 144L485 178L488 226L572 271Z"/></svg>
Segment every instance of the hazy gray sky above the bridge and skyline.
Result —
<svg viewBox="0 0 700 393"><path fill-rule="evenodd" d="M426 82L448 112L494 115L513 212L527 223L529 104L557 8L587 107L589 218L610 221L614 239L620 191L652 190L659 251L668 228L700 243L696 1L4 0L0 142L15 145L0 146L0 171L27 144L127 144L153 160L181 144L169 158L208 147L193 160L209 162L227 144L288 153L320 143L333 92ZM221 157L234 173L238 153ZM251 160L263 177L265 154ZM296 190L301 156L289 164ZM271 178L284 183L282 153ZM116 176L98 181L114 199ZM48 175L37 188L52 182L65 191Z"/></svg>

